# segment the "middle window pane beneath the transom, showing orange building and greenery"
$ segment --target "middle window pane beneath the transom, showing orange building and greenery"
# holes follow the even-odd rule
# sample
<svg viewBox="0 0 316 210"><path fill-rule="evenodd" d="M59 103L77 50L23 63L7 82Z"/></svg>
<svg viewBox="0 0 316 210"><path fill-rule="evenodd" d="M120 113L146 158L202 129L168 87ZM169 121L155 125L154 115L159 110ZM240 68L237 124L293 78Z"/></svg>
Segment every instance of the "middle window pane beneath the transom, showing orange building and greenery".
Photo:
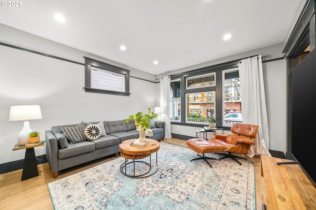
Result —
<svg viewBox="0 0 316 210"><path fill-rule="evenodd" d="M215 91L186 94L186 122L207 124L215 116Z"/></svg>

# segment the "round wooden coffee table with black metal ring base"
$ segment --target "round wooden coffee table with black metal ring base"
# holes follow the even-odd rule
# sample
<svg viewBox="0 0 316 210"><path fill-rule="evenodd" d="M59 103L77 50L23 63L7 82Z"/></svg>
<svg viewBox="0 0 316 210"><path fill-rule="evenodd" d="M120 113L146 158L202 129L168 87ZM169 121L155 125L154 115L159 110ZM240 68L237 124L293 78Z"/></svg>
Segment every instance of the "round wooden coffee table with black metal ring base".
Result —
<svg viewBox="0 0 316 210"><path fill-rule="evenodd" d="M125 158L124 163L120 166L120 172L130 178L145 178L152 176L158 171L158 155L157 151L160 148L160 143L154 139L149 139L149 143L145 145L144 147L135 147L131 146L130 144L135 141L136 139L129 139L126 141L123 141L119 145L119 151L120 155ZM152 165L152 153L156 152L156 165ZM150 157L150 163L147 163L145 161L135 161L138 159L143 159L145 157ZM128 159L131 159L132 161L128 162ZM133 163L133 172L131 174L126 173L126 168L128 164ZM144 172L141 172L141 174L135 175L135 163L143 163L149 166L149 170L146 170ZM156 169L153 169L153 166L156 167Z"/></svg>

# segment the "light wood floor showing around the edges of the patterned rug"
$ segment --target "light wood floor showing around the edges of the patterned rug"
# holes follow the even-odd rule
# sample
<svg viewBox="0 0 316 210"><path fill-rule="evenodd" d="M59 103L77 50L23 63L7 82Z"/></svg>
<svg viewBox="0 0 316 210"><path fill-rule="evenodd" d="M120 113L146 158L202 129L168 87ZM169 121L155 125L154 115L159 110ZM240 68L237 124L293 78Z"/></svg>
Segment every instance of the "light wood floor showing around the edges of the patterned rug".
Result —
<svg viewBox="0 0 316 210"><path fill-rule="evenodd" d="M164 139L165 142L187 146L186 141L179 139ZM90 165L65 170L53 178L48 163L38 165L39 176L21 181L22 169L0 175L0 210L53 210L47 183L76 174L80 171L108 162L116 157L101 160ZM260 157L248 158L254 162L256 182L257 210L262 210L262 203L266 201L265 184L261 177Z"/></svg>

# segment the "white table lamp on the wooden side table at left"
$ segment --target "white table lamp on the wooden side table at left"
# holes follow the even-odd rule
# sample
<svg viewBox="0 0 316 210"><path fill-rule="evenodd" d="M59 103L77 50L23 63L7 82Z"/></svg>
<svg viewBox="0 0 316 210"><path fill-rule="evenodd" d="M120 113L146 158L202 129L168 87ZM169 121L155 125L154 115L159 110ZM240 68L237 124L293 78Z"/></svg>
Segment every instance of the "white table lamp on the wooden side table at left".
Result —
<svg viewBox="0 0 316 210"><path fill-rule="evenodd" d="M24 127L18 135L17 142L19 145L25 145L29 142L29 133L32 132L30 123L27 120L42 119L40 105L17 105L10 107L9 121L22 121Z"/></svg>

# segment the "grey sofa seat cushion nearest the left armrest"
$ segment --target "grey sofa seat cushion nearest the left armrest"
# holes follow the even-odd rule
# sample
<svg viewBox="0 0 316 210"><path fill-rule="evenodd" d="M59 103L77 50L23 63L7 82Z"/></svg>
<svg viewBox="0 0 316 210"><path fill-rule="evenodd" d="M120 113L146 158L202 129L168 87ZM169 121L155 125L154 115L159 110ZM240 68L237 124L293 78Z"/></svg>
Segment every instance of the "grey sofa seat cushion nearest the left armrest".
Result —
<svg viewBox="0 0 316 210"><path fill-rule="evenodd" d="M77 144L69 144L68 148L58 150L58 158L64 159L86 152L91 152L94 150L94 148L94 143L90 141L79 142Z"/></svg>

